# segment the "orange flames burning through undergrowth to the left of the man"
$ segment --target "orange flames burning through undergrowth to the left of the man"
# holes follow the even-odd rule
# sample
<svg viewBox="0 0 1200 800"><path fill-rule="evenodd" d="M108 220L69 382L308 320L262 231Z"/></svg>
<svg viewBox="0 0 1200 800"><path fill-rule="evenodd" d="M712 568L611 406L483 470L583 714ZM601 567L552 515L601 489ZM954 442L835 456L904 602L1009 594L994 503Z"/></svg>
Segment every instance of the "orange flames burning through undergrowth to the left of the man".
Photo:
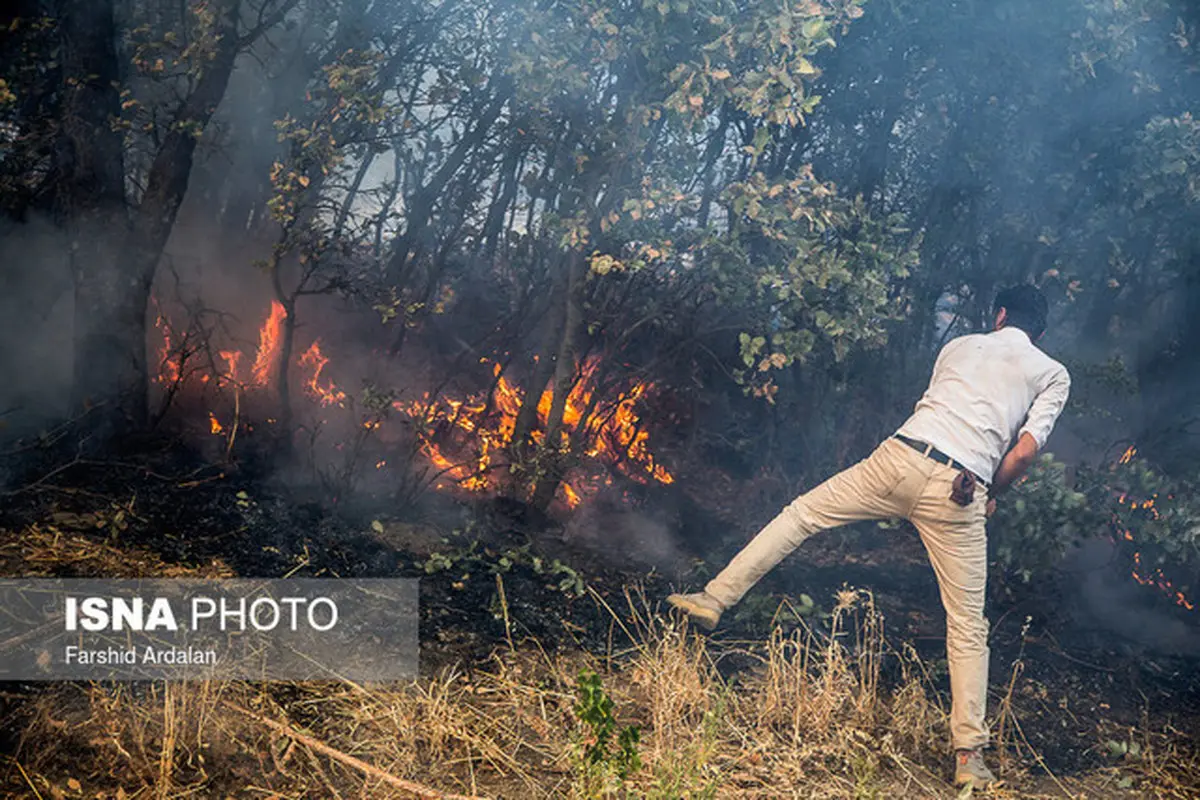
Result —
<svg viewBox="0 0 1200 800"><path fill-rule="evenodd" d="M527 391L504 373L500 363L485 359L491 381L482 391L458 396L452 391L425 392L412 401L378 392L380 402L366 395L356 398L330 374L331 356L320 338L311 339L287 371L281 368L283 353L293 349L282 341L286 318L283 306L274 301L258 326L252 351L230 348L214 354L203 336L181 337L164 314L158 315L157 384L164 402L188 408L205 405L202 432L221 437L227 457L239 429L272 426L287 416L277 405L289 403L290 395L280 391L280 384L295 380L312 415L323 419L318 428L328 425L332 415L343 417L342 425L332 426L341 432L334 450L361 456L360 467L385 470L389 464L410 461L412 453L403 452L403 439L410 435L431 470L428 482L438 489L524 494L554 471L560 506L575 509L618 476L643 485L674 482L673 474L652 450L652 435L642 415L644 401L656 391L654 383L601 380L605 369L600 356L590 356L578 366L562 425L551 441L551 385L527 399ZM293 372L295 378L290 377ZM535 403L535 422L528 441L518 443L515 437L526 403ZM364 447L365 437L374 437L376 446ZM366 450L374 455L365 455ZM554 464L547 465L551 459Z"/></svg>

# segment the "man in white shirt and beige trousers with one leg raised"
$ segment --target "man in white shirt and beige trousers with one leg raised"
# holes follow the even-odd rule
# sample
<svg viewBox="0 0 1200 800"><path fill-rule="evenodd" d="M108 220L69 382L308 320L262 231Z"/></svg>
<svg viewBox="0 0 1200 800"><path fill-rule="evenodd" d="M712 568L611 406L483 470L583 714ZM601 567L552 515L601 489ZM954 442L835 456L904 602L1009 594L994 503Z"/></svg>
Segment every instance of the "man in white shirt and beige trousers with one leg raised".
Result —
<svg viewBox="0 0 1200 800"><path fill-rule="evenodd" d="M910 521L946 607L959 787L982 789L996 782L982 752L988 745L986 517L996 494L1045 446L1070 389L1067 369L1033 344L1045 331L1046 311L1036 287L1001 291L992 306L995 330L942 348L929 389L893 437L793 500L704 591L667 597L713 630L722 612L817 531L863 519ZM1012 449L1009 443L1015 443Z"/></svg>

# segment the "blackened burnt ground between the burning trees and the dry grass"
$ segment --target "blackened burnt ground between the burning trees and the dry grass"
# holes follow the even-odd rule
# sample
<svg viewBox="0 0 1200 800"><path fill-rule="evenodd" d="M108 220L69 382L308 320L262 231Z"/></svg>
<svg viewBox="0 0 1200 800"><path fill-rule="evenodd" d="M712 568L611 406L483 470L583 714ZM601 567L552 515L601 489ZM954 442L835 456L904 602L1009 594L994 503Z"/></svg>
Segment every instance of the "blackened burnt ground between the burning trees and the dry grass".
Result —
<svg viewBox="0 0 1200 800"><path fill-rule="evenodd" d="M418 522L397 521L383 513L386 504L330 506L314 493L188 462L178 451L43 465L12 485L17 488L2 495L0 507L0 536L10 540L36 523L116 549L152 553L162 564L220 564L245 577L420 577L421 663L428 673L455 662L469 669L504 642L497 575L514 637L533 637L550 650L602 654L619 632L596 597L623 608L625 588L635 584L661 610L667 593L702 585L736 548L726 543L697 552L676 530L671 563L660 571L631 558L628 547L572 537L569 525L518 503L436 498L431 506L410 510ZM702 515L691 510L683 518ZM661 525L653 533L659 535ZM703 533L697 539L710 547L713 531ZM28 573L28 563L2 555L19 547L19 541L0 541L0 575ZM42 573L83 577L88 569L49 565ZM581 582L590 590L581 594ZM1056 775L1112 765L1121 758L1116 745L1133 730L1172 730L1194 744L1200 735L1200 658L1178 655L1171 643L1114 633L1081 607L1079 583L1064 579L1015 595L997 590L990 603L992 702L1006 693L1015 672L1013 703L1021 733L1043 759L1026 754L1024 765ZM737 652L746 642L762 642L773 619L797 624L786 613L775 616L784 600L799 604L800 593L808 594L815 607L805 622L820 630L823 609L845 585L872 590L888 640L919 652L948 708L937 587L919 541L905 529L830 531L806 543L710 637L718 650L728 645L722 672L736 680L750 666ZM1172 630L1200 631L1177 609L1158 610L1170 618ZM892 674L895 661L886 666ZM19 704L36 691L35 685L7 686L4 694ZM6 732L8 744L16 733Z"/></svg>

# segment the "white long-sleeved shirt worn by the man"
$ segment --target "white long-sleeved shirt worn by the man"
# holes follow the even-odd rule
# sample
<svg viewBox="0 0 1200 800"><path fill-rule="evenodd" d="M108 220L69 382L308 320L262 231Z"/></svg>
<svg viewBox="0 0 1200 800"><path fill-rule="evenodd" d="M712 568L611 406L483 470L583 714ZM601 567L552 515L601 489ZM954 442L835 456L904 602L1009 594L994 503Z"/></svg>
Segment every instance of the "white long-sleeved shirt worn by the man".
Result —
<svg viewBox="0 0 1200 800"><path fill-rule="evenodd" d="M991 482L1020 434L1045 446L1067 403L1067 368L1019 327L952 339L898 433L931 444Z"/></svg>

